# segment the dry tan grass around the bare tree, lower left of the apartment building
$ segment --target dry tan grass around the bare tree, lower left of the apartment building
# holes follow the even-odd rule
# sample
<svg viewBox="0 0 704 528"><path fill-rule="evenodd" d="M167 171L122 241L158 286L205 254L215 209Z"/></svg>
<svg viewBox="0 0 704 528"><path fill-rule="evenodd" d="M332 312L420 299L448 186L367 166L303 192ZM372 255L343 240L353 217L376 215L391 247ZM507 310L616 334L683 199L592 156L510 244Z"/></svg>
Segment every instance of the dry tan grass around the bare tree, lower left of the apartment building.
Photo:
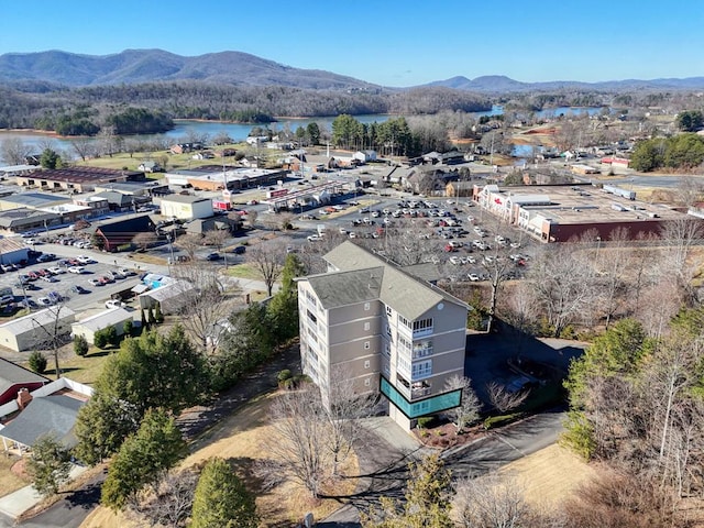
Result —
<svg viewBox="0 0 704 528"><path fill-rule="evenodd" d="M316 519L321 519L340 507L340 503L333 499L312 504L301 486L295 483L285 482L271 490L261 490L258 481L252 476L253 462L268 457L267 441L278 435L267 419L268 406L275 397L276 393L262 396L219 421L191 443L191 454L180 464L182 468L189 468L201 464L212 457L231 460L245 479L248 487L256 496L257 510L262 517L260 526L264 528L293 526L296 521L300 521L307 512L312 512ZM342 472L358 474L356 459L350 461ZM355 479L341 482L340 486L326 491L339 495L354 492ZM81 528L118 528L139 525L131 524L123 515L116 515L108 508L99 506L80 526Z"/></svg>

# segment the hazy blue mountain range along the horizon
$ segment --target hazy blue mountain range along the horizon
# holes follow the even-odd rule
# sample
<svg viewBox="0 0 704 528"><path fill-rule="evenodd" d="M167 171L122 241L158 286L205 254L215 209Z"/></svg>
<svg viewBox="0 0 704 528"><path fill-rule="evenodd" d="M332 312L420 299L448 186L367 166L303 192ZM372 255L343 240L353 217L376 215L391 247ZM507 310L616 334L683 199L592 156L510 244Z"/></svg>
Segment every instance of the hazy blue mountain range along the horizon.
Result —
<svg viewBox="0 0 704 528"><path fill-rule="evenodd" d="M306 89L398 90L319 69L299 69L248 53L220 52L186 57L163 50L125 50L112 55L80 55L62 51L0 55L0 82L50 82L99 86L153 81L201 80L235 86L289 86ZM578 90L704 89L704 77L612 80L603 82L521 82L506 76L475 79L458 76L425 86L484 94Z"/></svg>

